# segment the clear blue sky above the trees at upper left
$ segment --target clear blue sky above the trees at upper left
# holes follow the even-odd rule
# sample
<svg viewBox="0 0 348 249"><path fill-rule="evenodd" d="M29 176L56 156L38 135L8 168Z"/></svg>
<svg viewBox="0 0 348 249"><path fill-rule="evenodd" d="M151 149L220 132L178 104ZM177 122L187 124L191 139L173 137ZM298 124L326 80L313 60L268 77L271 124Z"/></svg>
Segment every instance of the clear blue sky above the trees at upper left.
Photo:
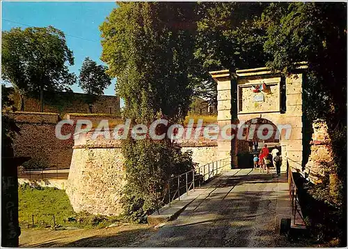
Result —
<svg viewBox="0 0 348 249"><path fill-rule="evenodd" d="M34 27L52 25L56 29L61 29L65 33L68 47L74 52L74 66L70 67L70 71L76 75L79 75L79 68L86 56L97 63L102 63L99 26L111 10L116 8L116 2L2 1L1 5L2 30L10 30L13 27L25 29L28 27L26 25ZM113 80L104 94L115 94L115 81ZM77 84L72 86L72 90L83 92Z"/></svg>

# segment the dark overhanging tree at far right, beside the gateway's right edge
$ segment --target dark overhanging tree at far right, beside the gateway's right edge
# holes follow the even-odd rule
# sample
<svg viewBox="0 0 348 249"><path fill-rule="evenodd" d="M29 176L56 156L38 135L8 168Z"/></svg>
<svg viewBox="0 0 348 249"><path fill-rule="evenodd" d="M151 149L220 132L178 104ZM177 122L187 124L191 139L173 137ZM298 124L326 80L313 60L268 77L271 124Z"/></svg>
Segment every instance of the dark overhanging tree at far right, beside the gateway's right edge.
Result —
<svg viewBox="0 0 348 249"><path fill-rule="evenodd" d="M335 125L346 114L346 10L346 3L271 3L262 17L273 57L267 66L289 73L308 62L308 115Z"/></svg>

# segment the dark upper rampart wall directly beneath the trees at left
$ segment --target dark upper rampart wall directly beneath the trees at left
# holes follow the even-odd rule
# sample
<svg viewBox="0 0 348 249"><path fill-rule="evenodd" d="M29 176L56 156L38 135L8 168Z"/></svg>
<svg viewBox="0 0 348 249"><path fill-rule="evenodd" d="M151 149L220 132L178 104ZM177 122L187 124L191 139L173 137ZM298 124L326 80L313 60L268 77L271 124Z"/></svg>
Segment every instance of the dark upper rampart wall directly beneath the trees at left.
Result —
<svg viewBox="0 0 348 249"><path fill-rule="evenodd" d="M9 98L14 101L17 111L20 111L20 98L13 90ZM24 97L24 112L40 112L38 98ZM96 96L91 99L86 93L55 92L44 93L44 112L58 114L66 113L95 113L95 114L120 114L120 98L118 96Z"/></svg>

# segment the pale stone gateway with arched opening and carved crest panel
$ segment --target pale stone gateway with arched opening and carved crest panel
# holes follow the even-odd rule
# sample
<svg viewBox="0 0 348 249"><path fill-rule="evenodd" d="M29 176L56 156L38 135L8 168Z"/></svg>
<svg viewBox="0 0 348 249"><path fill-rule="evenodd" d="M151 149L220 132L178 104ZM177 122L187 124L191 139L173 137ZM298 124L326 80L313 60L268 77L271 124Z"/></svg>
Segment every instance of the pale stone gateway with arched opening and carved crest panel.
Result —
<svg viewBox="0 0 348 249"><path fill-rule="evenodd" d="M282 170L287 165L296 169L303 167L303 122L302 82L303 69L299 67L286 77L272 73L268 68L210 72L217 82L218 123L244 123L252 119L267 119L280 130L280 145L283 160ZM283 128L290 127L290 134L283 134ZM287 137L285 137L287 135ZM230 156L232 167L238 167L238 139L218 139L218 157Z"/></svg>

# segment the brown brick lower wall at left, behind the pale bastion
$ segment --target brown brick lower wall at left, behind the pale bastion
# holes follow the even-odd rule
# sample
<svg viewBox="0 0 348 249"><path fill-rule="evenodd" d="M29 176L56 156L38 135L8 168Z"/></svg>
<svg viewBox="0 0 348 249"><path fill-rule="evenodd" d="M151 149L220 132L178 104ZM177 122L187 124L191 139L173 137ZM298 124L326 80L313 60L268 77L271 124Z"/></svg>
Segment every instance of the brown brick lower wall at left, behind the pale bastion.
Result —
<svg viewBox="0 0 348 249"><path fill-rule="evenodd" d="M72 146L74 138L62 140L56 137L56 124L60 116L56 113L40 112L10 112L6 114L15 120L20 129L13 139L15 156L30 156L33 160L40 162L42 166L58 169L68 169L72 158ZM96 124L101 119L108 119L111 122L118 120L113 115L77 116L65 115L73 121L87 119ZM75 126L63 125L63 135L74 134Z"/></svg>

